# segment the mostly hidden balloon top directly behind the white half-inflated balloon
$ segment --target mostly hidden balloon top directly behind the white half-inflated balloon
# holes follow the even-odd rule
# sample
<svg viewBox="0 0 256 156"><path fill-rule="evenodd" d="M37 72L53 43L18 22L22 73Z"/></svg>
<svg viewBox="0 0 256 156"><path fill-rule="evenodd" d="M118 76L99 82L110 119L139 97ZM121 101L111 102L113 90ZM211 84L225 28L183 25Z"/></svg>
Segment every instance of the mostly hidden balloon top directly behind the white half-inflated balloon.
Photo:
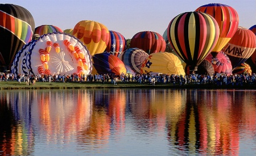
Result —
<svg viewBox="0 0 256 156"><path fill-rule="evenodd" d="M35 28L35 34L38 34L40 36L51 32L63 32L63 30L53 25L42 25Z"/></svg>

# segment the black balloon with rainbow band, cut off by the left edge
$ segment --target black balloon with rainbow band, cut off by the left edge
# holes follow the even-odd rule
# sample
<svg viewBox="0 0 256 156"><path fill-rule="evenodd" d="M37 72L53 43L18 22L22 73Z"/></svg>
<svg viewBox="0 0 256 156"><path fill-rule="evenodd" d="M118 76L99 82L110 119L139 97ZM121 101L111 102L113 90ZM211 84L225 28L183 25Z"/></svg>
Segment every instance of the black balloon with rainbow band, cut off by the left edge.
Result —
<svg viewBox="0 0 256 156"><path fill-rule="evenodd" d="M13 62L15 54L32 40L35 22L30 12L22 6L0 4L0 65Z"/></svg>

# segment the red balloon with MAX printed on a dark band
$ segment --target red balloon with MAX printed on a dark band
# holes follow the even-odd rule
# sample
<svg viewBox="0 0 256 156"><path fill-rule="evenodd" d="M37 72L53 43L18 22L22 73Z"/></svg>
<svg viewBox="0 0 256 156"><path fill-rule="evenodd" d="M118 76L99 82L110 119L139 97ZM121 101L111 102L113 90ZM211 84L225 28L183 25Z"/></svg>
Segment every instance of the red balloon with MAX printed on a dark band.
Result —
<svg viewBox="0 0 256 156"><path fill-rule="evenodd" d="M247 28L238 27L223 51L229 56L233 68L243 64L256 49L256 36Z"/></svg>

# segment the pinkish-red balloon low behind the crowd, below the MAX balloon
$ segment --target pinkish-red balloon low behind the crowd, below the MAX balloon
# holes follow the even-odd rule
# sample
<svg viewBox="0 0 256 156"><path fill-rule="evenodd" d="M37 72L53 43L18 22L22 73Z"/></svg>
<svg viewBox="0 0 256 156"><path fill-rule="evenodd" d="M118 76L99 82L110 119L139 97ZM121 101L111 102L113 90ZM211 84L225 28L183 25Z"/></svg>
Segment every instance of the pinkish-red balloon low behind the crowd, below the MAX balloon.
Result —
<svg viewBox="0 0 256 156"><path fill-rule="evenodd" d="M211 53L205 58L205 60L210 61L213 64L214 73L219 74L232 74L232 64L229 60L229 57L224 53L222 50L217 53L217 56L214 57L215 59L212 60L213 56Z"/></svg>

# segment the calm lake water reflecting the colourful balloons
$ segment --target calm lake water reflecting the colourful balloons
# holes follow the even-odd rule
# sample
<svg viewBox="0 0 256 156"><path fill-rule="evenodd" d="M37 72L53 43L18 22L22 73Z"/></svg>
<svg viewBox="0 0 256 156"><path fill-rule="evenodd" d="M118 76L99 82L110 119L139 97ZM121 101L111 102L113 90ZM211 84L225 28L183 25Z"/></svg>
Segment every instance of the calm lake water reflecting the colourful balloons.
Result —
<svg viewBox="0 0 256 156"><path fill-rule="evenodd" d="M0 155L256 155L256 90L2 90Z"/></svg>

